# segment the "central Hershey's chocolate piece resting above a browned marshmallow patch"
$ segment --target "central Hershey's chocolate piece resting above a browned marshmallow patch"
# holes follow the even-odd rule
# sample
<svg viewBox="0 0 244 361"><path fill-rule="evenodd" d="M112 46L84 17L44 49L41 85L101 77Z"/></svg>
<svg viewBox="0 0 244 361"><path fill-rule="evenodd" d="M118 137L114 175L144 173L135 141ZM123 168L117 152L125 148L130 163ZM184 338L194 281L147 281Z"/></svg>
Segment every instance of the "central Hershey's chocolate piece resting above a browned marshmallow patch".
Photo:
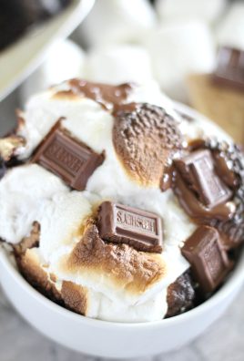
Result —
<svg viewBox="0 0 244 361"><path fill-rule="evenodd" d="M98 211L98 229L106 241L127 243L137 251L162 252L162 222L154 213L105 201Z"/></svg>

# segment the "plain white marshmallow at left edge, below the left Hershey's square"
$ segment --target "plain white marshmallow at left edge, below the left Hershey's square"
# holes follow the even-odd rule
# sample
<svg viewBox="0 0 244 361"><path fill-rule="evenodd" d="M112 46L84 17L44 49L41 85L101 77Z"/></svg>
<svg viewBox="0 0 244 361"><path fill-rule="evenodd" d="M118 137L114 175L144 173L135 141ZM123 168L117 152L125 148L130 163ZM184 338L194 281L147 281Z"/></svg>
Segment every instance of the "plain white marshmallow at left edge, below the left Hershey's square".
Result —
<svg viewBox="0 0 244 361"><path fill-rule="evenodd" d="M0 182L0 237L20 242L38 221L42 202L67 190L62 180L36 164L9 170Z"/></svg>

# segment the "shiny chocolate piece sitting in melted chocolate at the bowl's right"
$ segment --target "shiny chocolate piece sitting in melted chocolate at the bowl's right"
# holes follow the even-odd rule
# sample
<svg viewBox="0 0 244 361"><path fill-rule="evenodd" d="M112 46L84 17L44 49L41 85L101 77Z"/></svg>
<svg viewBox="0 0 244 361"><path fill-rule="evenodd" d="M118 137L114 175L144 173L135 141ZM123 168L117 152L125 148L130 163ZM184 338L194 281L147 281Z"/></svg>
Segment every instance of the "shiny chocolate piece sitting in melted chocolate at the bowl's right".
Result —
<svg viewBox="0 0 244 361"><path fill-rule="evenodd" d="M198 150L175 160L177 169L198 200L213 208L229 200L232 192L219 179L209 150Z"/></svg>

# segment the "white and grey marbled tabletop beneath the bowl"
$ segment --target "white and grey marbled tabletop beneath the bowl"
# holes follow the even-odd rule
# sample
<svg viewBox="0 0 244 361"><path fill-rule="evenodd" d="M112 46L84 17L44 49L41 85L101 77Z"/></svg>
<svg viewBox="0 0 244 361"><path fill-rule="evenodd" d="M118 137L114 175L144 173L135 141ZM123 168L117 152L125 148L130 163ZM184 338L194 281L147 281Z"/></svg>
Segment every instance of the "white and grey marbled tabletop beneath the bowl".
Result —
<svg viewBox="0 0 244 361"><path fill-rule="evenodd" d="M0 134L15 122L17 91L0 103ZM188 332L188 330L186 330ZM15 313L0 289L0 361L90 361L46 339ZM244 361L244 289L218 322L182 349L140 361Z"/></svg>

